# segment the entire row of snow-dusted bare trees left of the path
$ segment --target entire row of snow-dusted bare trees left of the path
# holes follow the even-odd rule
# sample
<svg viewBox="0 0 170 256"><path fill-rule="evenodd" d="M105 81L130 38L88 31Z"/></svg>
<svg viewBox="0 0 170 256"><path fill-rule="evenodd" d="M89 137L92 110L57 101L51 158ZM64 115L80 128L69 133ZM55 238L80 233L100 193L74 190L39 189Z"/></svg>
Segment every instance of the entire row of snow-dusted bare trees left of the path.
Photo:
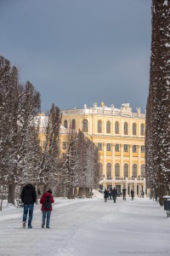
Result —
<svg viewBox="0 0 170 256"><path fill-rule="evenodd" d="M68 132L65 161L60 157L61 113L52 104L43 126L45 146L40 146L41 95L0 56L0 185L3 199L14 204L17 189L28 182L43 190L53 187L56 195L73 197L76 187L98 186L99 153L81 131ZM65 188L65 189L64 189ZM72 191L72 192L71 192ZM2 209L2 201L1 201Z"/></svg>

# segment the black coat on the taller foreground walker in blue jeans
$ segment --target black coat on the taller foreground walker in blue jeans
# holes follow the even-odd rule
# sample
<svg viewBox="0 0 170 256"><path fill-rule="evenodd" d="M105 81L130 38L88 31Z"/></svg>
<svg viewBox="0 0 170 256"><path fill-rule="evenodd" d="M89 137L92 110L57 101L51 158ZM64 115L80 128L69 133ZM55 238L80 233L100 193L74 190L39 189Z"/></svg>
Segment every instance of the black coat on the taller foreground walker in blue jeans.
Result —
<svg viewBox="0 0 170 256"><path fill-rule="evenodd" d="M26 186L22 189L20 195L21 201L25 205L31 205L37 201L36 189L32 184L26 184Z"/></svg>

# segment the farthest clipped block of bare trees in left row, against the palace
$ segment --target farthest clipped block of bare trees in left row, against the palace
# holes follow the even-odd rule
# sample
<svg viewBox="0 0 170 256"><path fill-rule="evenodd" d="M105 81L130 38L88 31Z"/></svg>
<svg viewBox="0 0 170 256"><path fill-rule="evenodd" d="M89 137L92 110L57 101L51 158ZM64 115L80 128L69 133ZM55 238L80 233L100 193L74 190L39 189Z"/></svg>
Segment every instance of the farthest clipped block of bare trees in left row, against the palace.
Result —
<svg viewBox="0 0 170 256"><path fill-rule="evenodd" d="M67 130L65 159L60 161L60 195L91 195L99 188L99 149L82 131Z"/></svg>

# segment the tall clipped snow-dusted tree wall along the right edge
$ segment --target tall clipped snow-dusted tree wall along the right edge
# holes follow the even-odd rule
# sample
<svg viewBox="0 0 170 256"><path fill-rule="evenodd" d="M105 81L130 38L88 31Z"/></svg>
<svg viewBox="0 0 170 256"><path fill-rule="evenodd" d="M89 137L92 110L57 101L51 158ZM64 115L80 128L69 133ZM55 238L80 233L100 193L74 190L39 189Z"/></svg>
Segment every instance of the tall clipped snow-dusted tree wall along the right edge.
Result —
<svg viewBox="0 0 170 256"><path fill-rule="evenodd" d="M169 1L152 1L150 90L146 106L146 184L151 196L167 195L170 182Z"/></svg>

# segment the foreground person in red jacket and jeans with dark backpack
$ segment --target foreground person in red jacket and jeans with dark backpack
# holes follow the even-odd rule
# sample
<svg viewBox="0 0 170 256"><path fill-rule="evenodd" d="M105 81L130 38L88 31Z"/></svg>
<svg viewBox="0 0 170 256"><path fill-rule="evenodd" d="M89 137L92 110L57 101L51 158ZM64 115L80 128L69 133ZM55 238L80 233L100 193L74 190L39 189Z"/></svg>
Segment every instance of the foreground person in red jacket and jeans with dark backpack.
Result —
<svg viewBox="0 0 170 256"><path fill-rule="evenodd" d="M54 203L54 197L51 189L48 189L48 191L42 195L40 203L42 204L42 229L45 224L46 228L49 229L52 204Z"/></svg>

